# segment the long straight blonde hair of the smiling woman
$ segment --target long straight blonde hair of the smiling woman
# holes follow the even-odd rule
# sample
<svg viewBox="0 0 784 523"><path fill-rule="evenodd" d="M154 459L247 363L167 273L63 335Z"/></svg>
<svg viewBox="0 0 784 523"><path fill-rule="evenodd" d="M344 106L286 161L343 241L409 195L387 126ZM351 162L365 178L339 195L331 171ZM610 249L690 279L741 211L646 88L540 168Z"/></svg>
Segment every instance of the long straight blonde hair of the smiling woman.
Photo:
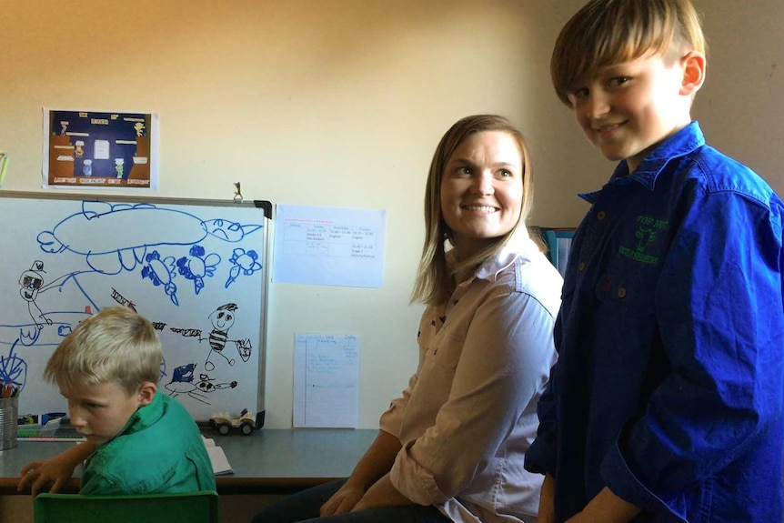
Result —
<svg viewBox="0 0 784 523"><path fill-rule="evenodd" d="M460 260L454 267L447 264L447 240L453 243L452 230L441 214L441 180L449 158L466 138L474 133L500 131L514 137L520 148L523 176L523 201L520 216L512 229L474 256ZM417 270L417 279L411 293L412 302L426 305L444 303L455 290L456 274L471 274L482 266L489 258L496 256L498 251L514 235L519 226L525 226L525 219L530 212L533 199L533 178L528 160L528 147L523 134L513 126L507 118L497 115L476 115L462 118L451 126L441 138L430 162L425 187L425 245L422 248L422 259Z"/></svg>

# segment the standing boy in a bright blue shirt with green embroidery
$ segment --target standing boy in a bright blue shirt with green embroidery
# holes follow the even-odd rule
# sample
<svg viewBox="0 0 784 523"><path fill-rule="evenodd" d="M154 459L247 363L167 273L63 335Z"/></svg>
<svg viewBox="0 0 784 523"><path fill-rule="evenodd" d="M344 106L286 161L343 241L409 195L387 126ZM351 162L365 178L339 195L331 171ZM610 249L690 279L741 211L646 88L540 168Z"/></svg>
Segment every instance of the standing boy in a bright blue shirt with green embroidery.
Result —
<svg viewBox="0 0 784 523"><path fill-rule="evenodd" d="M592 0L558 97L618 161L574 237L525 467L539 521L782 521L782 202L705 144L689 0Z"/></svg>

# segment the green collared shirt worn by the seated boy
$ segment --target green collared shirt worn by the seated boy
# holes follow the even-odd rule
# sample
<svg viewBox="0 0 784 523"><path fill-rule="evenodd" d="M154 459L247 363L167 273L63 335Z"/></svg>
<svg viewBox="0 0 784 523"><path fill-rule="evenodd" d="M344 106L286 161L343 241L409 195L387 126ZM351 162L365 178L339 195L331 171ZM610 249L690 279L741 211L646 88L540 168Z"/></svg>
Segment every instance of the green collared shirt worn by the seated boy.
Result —
<svg viewBox="0 0 784 523"><path fill-rule="evenodd" d="M160 392L87 460L80 494L164 494L215 490L215 475L193 417Z"/></svg>

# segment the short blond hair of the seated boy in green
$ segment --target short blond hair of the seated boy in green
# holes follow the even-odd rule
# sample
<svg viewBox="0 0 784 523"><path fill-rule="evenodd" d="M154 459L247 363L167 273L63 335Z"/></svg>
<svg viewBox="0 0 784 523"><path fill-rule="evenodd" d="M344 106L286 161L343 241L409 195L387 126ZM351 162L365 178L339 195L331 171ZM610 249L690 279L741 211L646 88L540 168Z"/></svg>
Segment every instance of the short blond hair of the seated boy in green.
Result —
<svg viewBox="0 0 784 523"><path fill-rule="evenodd" d="M157 384L163 352L153 325L126 307L109 307L77 325L49 358L44 379L60 387L115 383L130 396Z"/></svg>

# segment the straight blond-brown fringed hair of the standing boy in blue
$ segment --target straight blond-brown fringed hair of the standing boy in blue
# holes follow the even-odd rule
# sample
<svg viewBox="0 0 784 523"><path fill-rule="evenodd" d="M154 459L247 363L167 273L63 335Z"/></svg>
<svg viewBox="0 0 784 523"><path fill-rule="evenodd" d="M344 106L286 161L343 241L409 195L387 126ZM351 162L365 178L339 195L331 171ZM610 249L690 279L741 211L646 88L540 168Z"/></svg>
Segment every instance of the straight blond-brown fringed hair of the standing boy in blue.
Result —
<svg viewBox="0 0 784 523"><path fill-rule="evenodd" d="M598 67L648 55L674 60L689 51L705 54L699 14L689 0L591 0L561 29L550 59L558 98Z"/></svg>

